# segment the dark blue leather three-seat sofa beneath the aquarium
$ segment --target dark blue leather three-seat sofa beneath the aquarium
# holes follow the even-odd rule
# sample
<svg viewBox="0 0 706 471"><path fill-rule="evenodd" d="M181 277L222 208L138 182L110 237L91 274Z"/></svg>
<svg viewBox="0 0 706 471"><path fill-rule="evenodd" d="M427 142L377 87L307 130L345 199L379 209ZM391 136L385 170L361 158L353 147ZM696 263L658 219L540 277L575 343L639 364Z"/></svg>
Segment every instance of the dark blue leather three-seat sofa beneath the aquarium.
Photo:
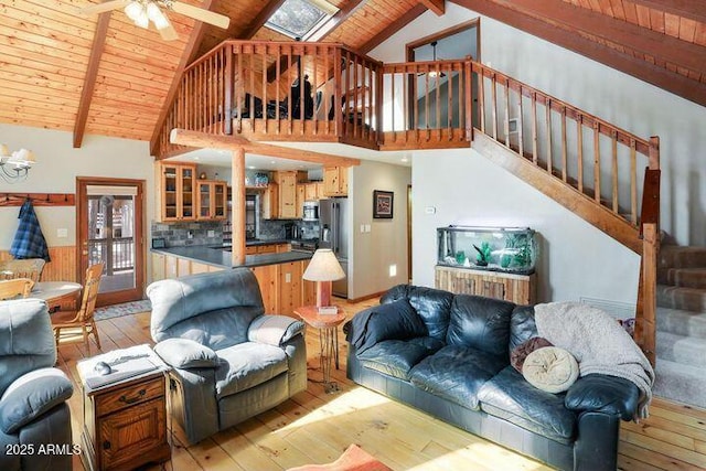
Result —
<svg viewBox="0 0 706 471"><path fill-rule="evenodd" d="M532 307L400 285L344 331L355 383L558 469L616 470L638 387L599 374L561 394L530 385L510 353L537 336Z"/></svg>

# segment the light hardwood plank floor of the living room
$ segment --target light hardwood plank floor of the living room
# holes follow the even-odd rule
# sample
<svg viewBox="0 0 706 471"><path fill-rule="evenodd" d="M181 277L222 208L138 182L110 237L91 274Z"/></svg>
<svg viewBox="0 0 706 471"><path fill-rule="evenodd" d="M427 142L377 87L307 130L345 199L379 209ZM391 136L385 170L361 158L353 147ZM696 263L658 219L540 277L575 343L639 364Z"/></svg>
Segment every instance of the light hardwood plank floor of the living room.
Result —
<svg viewBox="0 0 706 471"><path fill-rule="evenodd" d="M377 300L345 304L349 317ZM149 313L98 322L104 351L152 343ZM325 394L317 381L319 336L308 331L309 388L272 410L184 448L174 445L171 461L150 470L281 470L336 459L351 443L395 470L548 470L546 465L432 417L356 386L345 377L346 344L340 334L341 370L332 375L341 390ZM74 442L79 443L83 404L76 361L83 345L63 345L58 366L75 385L69 399ZM642 424L623 422L620 469L706 469L706 410L655 398ZM83 470L77 457L74 469Z"/></svg>

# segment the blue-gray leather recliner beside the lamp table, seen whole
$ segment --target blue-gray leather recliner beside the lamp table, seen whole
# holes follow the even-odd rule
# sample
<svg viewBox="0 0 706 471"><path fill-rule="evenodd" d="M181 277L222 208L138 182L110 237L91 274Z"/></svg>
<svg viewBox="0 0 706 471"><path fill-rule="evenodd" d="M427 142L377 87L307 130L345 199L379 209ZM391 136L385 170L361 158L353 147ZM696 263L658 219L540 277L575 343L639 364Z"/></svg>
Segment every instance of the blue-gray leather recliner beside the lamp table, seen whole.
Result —
<svg viewBox="0 0 706 471"><path fill-rule="evenodd" d="M190 443L307 388L304 325L264 315L249 269L160 280L147 295L154 351L172 367L170 414Z"/></svg>

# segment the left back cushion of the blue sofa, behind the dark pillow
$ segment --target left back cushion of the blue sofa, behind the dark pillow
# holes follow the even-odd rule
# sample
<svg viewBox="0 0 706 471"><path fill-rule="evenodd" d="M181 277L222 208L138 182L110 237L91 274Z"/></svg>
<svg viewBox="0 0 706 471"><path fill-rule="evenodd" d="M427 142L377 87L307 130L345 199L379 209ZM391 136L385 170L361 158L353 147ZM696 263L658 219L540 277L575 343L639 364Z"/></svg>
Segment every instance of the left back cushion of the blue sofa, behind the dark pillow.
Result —
<svg viewBox="0 0 706 471"><path fill-rule="evenodd" d="M428 335L446 340L453 293L440 289L397 285L381 298L382 304L406 299L427 327Z"/></svg>

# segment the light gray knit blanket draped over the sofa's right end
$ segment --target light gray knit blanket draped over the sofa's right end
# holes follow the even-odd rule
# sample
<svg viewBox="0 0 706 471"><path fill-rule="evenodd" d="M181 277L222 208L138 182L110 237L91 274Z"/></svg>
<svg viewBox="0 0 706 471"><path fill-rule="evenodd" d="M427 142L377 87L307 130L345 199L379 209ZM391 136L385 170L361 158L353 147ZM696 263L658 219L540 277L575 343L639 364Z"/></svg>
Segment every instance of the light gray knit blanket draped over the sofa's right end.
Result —
<svg viewBox="0 0 706 471"><path fill-rule="evenodd" d="M640 389L634 420L648 418L654 370L640 347L605 311L579 302L535 306L539 336L576 357L579 375L600 373L625 378Z"/></svg>

